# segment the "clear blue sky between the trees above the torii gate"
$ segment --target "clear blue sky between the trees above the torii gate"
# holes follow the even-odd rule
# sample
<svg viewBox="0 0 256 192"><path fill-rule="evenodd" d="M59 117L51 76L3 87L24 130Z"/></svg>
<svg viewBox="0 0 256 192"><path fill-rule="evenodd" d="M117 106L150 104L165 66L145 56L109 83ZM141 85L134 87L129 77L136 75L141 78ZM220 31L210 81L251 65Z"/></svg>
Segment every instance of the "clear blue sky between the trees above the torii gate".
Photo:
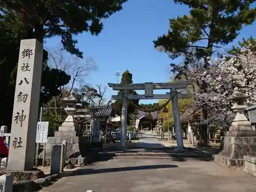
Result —
<svg viewBox="0 0 256 192"><path fill-rule="evenodd" d="M117 82L115 71L122 74L128 69L133 74L134 83L167 82L172 60L154 49L153 40L167 33L169 18L187 13L186 6L174 4L172 0L130 0L125 3L122 11L103 21L104 29L98 36L84 33L76 37L84 57L93 57L99 68L87 81L92 85L102 83L107 86L108 82ZM255 24L243 28L233 44L236 45L242 37L255 37L255 29ZM46 47L58 47L59 42L58 37L51 38ZM108 88L106 98L109 100L115 93ZM143 101L148 102L156 101Z"/></svg>

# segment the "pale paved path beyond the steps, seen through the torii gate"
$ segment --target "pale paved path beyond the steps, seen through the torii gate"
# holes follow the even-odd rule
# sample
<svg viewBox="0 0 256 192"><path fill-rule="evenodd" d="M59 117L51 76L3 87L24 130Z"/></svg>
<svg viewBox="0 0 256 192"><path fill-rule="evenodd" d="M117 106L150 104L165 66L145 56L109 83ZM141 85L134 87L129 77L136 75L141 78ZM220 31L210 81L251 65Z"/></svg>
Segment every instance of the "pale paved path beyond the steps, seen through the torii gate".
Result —
<svg viewBox="0 0 256 192"><path fill-rule="evenodd" d="M137 147L164 147L164 145L151 133L146 132L142 134L139 141L136 143Z"/></svg>

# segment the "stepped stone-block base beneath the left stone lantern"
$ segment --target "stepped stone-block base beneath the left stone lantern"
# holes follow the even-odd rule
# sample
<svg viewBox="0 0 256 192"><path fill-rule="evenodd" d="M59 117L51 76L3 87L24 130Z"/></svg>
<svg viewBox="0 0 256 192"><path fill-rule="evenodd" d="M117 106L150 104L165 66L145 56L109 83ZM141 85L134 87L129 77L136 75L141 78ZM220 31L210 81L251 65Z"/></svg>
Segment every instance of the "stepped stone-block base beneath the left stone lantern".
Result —
<svg viewBox="0 0 256 192"><path fill-rule="evenodd" d="M78 136L76 131L55 132L55 137L48 137L46 144L46 160L51 159L52 146L67 141L66 162L72 164L83 164L86 155L91 150L90 136ZM42 158L44 152L41 152L38 158Z"/></svg>

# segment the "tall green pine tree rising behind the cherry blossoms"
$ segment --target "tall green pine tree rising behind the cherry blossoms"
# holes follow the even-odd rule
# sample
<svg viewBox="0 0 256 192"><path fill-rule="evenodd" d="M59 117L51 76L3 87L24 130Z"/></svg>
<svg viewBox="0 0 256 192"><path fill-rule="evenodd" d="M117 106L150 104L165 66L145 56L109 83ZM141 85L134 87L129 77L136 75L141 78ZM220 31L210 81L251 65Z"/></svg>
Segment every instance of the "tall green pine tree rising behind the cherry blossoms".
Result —
<svg viewBox="0 0 256 192"><path fill-rule="evenodd" d="M255 1L175 0L175 3L187 5L190 14L169 19L170 30L154 41L155 48L165 51L172 59L184 56L184 65L170 64L177 78L191 67L191 59L204 59L207 68L207 57L216 48L232 42L244 25L253 23L256 8L250 5ZM199 87L205 90L206 84L201 83ZM201 120L206 118L207 111L202 108ZM207 145L206 130L206 125L202 125L199 142L202 145Z"/></svg>

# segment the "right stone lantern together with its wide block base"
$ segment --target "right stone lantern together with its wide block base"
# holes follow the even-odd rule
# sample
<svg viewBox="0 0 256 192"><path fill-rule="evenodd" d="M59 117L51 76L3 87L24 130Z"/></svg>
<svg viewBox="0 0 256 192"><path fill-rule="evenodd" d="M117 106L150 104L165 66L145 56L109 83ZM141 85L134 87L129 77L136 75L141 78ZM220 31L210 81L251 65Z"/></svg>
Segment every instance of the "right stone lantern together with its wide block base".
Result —
<svg viewBox="0 0 256 192"><path fill-rule="evenodd" d="M256 155L256 132L243 112L248 107L244 100L249 96L234 89L231 100L232 110L236 113L229 131L224 137L223 150L214 156L215 162L223 166L242 166L245 155Z"/></svg>

